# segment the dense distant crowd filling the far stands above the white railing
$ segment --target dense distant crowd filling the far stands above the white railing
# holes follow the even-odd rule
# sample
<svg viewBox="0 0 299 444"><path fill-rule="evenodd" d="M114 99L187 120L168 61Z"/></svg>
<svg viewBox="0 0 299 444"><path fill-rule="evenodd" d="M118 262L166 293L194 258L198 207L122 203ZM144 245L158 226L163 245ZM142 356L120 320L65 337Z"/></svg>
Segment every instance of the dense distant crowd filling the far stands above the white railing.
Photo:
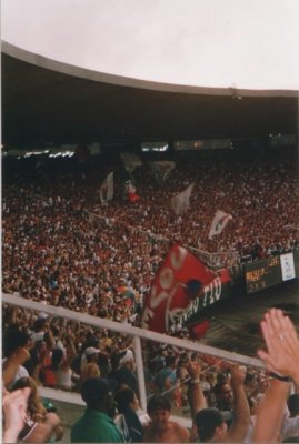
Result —
<svg viewBox="0 0 299 444"><path fill-rule="evenodd" d="M133 173L141 196L137 204L129 204L123 193L127 173L120 161L16 162L20 164L11 174L9 168L3 173L6 293L122 321L131 314L122 294L131 290L142 305L167 240L253 260L299 246L298 179L291 160L180 160L160 188L144 163ZM103 206L100 184L112 169L114 198ZM190 208L177 216L170 198L193 182ZM232 220L209 240L218 209Z"/></svg>

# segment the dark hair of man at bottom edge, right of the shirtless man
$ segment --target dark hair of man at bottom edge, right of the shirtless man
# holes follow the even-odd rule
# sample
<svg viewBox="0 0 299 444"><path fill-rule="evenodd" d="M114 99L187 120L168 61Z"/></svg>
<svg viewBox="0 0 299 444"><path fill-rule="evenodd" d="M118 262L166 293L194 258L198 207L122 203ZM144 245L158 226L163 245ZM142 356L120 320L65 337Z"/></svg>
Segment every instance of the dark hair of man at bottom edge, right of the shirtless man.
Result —
<svg viewBox="0 0 299 444"><path fill-rule="evenodd" d="M200 442L206 442L213 437L216 427L223 424L223 417L218 408L202 408L196 414L195 423Z"/></svg>

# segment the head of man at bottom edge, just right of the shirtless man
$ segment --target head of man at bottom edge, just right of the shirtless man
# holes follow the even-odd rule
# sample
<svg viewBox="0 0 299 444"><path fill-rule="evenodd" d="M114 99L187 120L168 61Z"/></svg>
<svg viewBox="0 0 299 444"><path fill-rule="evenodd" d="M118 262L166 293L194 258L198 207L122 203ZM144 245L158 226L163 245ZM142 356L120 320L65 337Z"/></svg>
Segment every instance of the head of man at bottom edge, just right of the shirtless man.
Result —
<svg viewBox="0 0 299 444"><path fill-rule="evenodd" d="M196 414L195 423L198 430L200 442L223 442L228 426L221 414L217 408L202 408Z"/></svg>

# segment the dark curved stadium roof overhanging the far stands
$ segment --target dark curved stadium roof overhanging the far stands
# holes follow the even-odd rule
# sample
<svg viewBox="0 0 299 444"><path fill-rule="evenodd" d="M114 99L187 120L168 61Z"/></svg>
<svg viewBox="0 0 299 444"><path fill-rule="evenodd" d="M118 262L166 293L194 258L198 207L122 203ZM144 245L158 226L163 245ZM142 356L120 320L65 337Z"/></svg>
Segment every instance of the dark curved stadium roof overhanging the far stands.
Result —
<svg viewBox="0 0 299 444"><path fill-rule="evenodd" d="M18 60L2 52L2 143L230 138L266 142L297 134L298 93L93 81ZM114 82L114 84L113 84ZM126 81L121 81L126 83Z"/></svg>

